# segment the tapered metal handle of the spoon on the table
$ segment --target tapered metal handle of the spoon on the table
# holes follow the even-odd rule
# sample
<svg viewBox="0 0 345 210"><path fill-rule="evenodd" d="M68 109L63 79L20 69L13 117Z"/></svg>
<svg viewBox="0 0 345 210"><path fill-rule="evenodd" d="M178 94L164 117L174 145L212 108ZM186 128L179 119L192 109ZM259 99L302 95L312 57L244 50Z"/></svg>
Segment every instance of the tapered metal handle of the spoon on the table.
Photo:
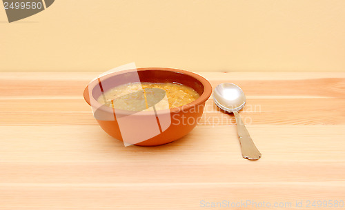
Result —
<svg viewBox="0 0 345 210"><path fill-rule="evenodd" d="M255 147L252 138L250 138L248 130L244 125L241 116L238 112L233 112L237 123L237 132L239 136L239 143L241 144L242 156L248 158L249 160L258 160L261 157L261 153Z"/></svg>

